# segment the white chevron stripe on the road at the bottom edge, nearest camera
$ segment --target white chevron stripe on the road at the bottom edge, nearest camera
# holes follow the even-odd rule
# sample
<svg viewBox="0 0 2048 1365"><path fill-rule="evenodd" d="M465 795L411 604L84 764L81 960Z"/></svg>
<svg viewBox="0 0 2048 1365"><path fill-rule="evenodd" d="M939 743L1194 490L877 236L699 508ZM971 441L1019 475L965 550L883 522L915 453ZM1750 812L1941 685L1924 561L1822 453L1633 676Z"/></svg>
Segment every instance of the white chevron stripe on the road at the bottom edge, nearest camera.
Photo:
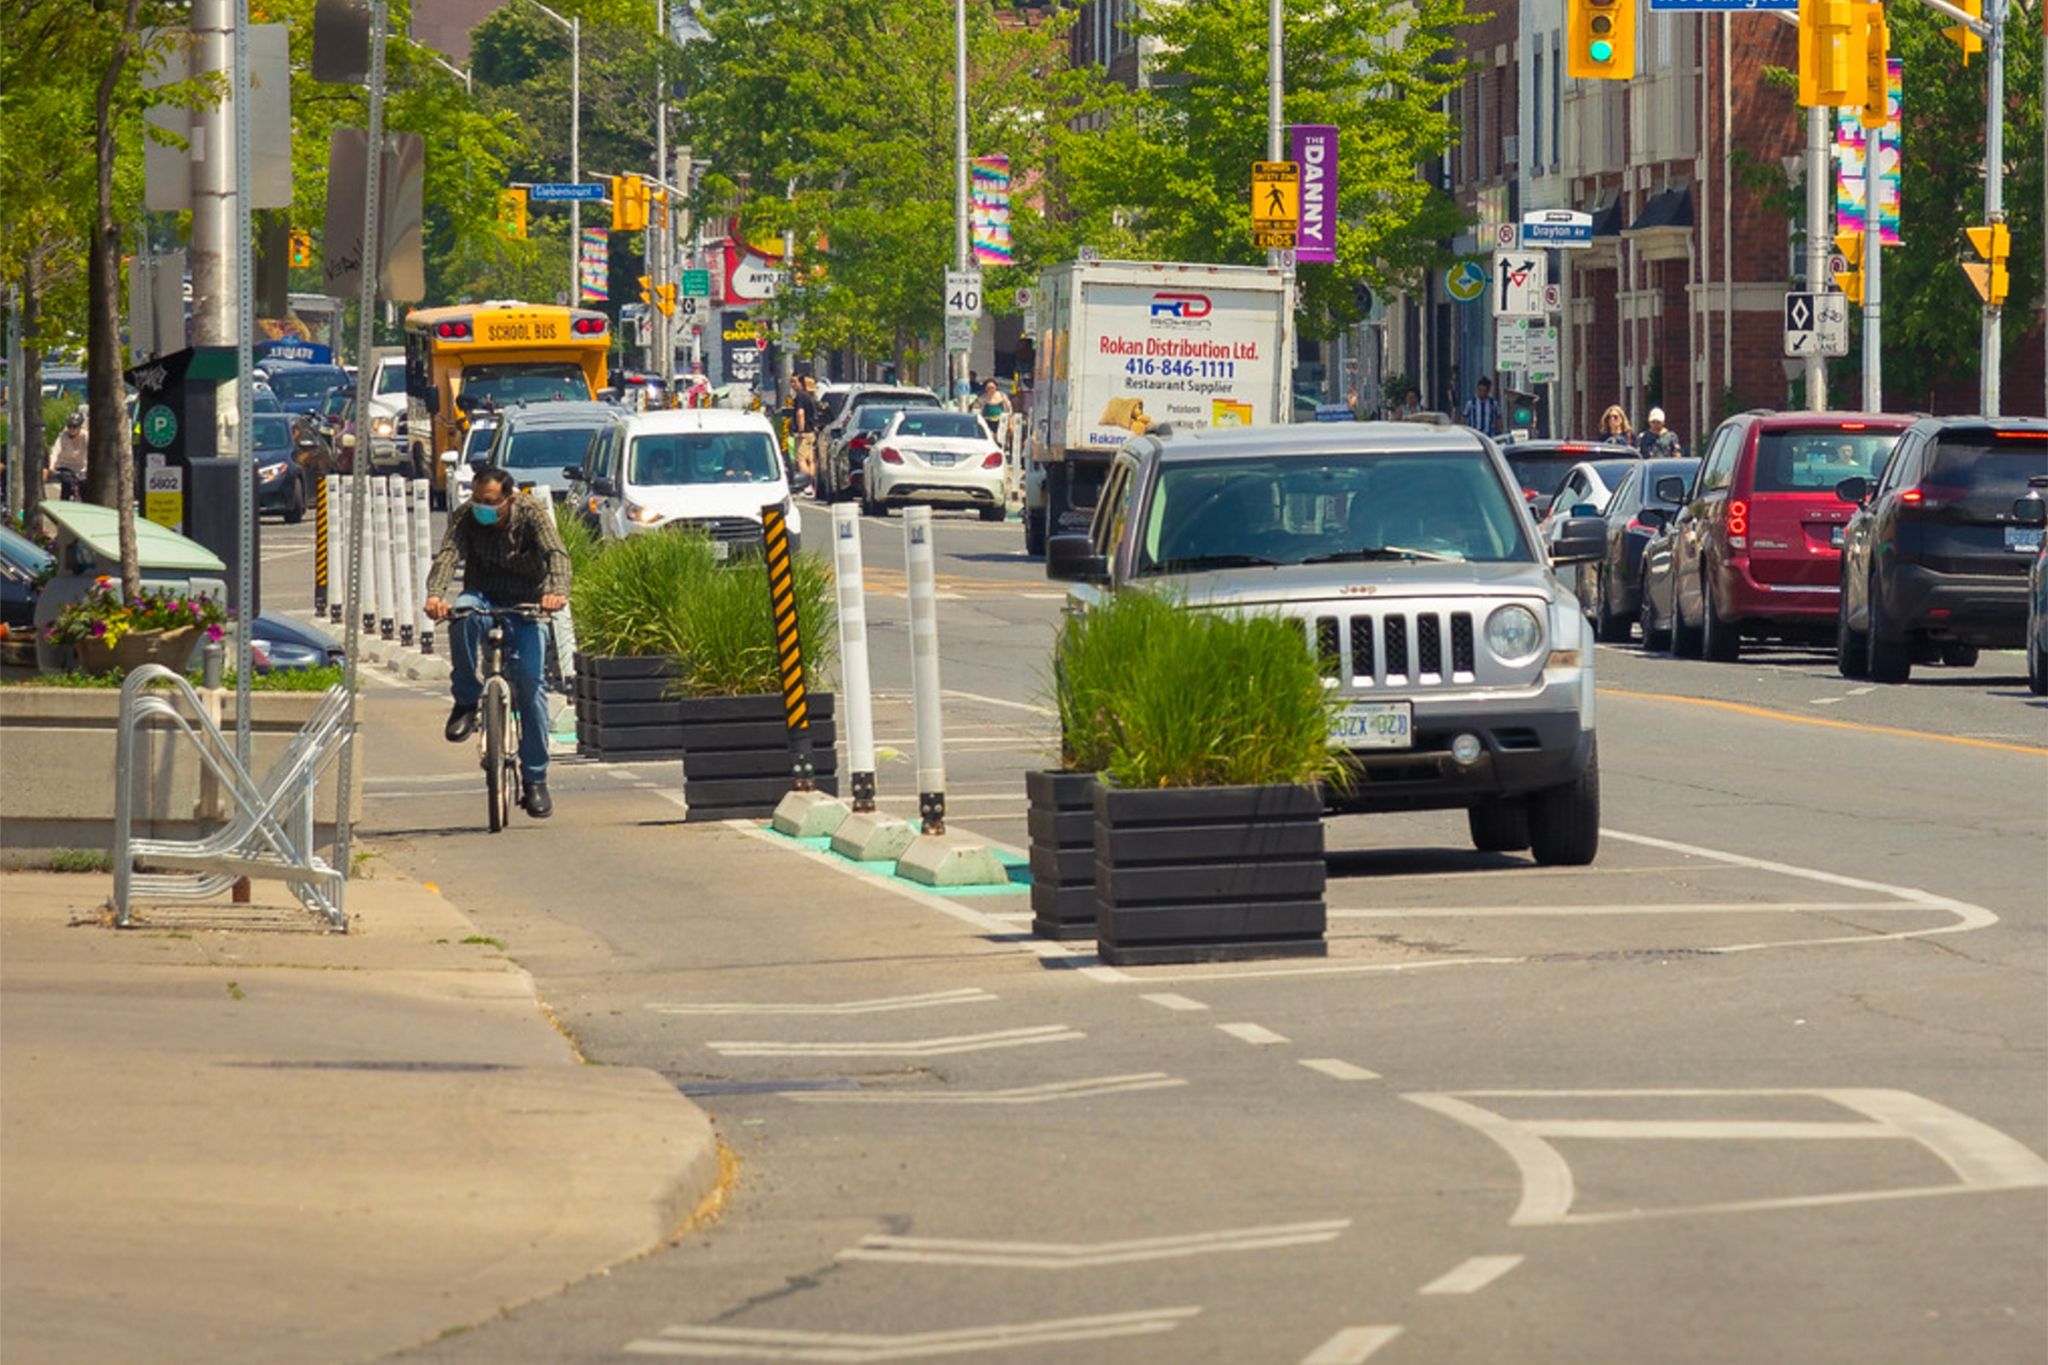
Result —
<svg viewBox="0 0 2048 1365"><path fill-rule="evenodd" d="M629 1340L627 1355L723 1357L748 1361L905 1361L930 1355L967 1355L1006 1351L1063 1340L1104 1340L1110 1336L1149 1336L1171 1332L1200 1306L1141 1308L1126 1314L1092 1314L1087 1318L1049 1318L1042 1322L997 1322L950 1332L905 1332L883 1336L870 1332L799 1332L750 1326L670 1326L659 1336Z"/></svg>

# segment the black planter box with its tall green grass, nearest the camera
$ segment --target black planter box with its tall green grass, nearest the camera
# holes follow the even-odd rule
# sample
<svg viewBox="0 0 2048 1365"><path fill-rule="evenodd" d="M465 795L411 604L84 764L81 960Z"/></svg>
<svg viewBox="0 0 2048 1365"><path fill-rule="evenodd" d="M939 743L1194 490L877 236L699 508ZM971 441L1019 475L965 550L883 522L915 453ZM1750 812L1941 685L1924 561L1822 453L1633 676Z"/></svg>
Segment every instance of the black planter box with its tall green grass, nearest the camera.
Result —
<svg viewBox="0 0 2048 1365"><path fill-rule="evenodd" d="M1141 591L1069 620L1063 749L1094 769L1104 962L1323 956L1323 794L1346 780L1298 622Z"/></svg>

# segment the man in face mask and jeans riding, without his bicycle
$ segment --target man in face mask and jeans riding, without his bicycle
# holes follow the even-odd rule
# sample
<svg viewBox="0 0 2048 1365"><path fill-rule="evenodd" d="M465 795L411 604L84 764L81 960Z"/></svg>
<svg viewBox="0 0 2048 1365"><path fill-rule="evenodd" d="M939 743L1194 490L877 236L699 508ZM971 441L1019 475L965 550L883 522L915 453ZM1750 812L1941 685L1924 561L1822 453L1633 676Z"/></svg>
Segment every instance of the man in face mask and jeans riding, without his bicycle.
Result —
<svg viewBox="0 0 2048 1365"><path fill-rule="evenodd" d="M457 563L463 565L463 593L451 604ZM508 471L479 469L469 505L449 516L449 530L426 575L428 616L446 620L453 606L473 610L453 630L449 692L455 708L442 735L461 743L477 729L477 700L483 696L477 651L496 620L504 630L504 671L518 708L520 806L537 821L555 810L547 796L547 700L541 688L547 632L530 614L492 616L492 608L559 612L567 604L569 553L555 530L555 510L545 497L520 497Z"/></svg>

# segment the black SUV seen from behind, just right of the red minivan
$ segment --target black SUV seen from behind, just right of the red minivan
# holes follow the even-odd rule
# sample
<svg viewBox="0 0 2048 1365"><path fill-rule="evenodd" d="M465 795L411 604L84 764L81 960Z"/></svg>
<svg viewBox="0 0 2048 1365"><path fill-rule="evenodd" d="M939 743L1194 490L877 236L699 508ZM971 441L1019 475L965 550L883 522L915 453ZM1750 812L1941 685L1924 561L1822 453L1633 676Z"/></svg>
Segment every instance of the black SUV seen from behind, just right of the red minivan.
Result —
<svg viewBox="0 0 2048 1365"><path fill-rule="evenodd" d="M1878 479L1835 493L1843 534L1835 661L1896 684L1929 655L1970 667L2028 643L2028 573L2042 551L2048 422L1927 417Z"/></svg>

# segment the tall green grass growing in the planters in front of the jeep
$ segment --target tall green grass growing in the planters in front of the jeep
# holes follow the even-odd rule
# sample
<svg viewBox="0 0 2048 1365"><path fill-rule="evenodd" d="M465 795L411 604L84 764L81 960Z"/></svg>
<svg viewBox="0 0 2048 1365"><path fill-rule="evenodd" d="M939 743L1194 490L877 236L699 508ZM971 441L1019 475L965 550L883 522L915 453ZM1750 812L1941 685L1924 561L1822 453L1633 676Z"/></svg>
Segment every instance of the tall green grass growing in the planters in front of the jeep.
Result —
<svg viewBox="0 0 2048 1365"><path fill-rule="evenodd" d="M1061 761L1126 788L1337 784L1300 622L1122 591L1053 653Z"/></svg>

